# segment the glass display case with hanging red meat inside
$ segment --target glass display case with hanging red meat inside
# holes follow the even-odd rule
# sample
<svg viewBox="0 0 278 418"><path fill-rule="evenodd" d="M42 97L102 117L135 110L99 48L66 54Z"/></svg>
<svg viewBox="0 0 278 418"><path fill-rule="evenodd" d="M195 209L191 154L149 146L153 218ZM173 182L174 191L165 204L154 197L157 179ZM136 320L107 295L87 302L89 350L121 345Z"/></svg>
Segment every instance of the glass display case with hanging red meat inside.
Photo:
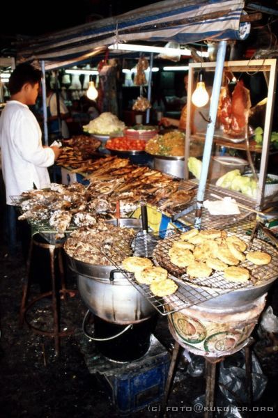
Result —
<svg viewBox="0 0 278 418"><path fill-rule="evenodd" d="M187 129L185 141L185 178L189 177L187 169L187 160L190 157L190 142L205 141L206 126L209 122L209 107L195 108L192 105L192 92L196 86L196 79L200 70L203 72L203 79L206 82L206 88L209 95L213 88L213 77L215 73L215 62L208 63L190 63L189 77L187 88ZM242 136L235 135L229 132L228 134L223 129L223 125L217 118L215 125L215 134L213 138L213 153L228 153L234 155L235 152L240 154L248 161L249 175L257 176L257 190L256 196L247 196L254 206L258 209L268 206L270 202L278 200L278 194L275 193L275 185L272 187L271 183L277 180L278 176L268 172L268 160L272 155L278 154L278 149L272 147L270 143L272 134L272 117L275 105L275 89L277 84L277 60L276 59L261 59L249 61L226 61L223 70L222 85L226 85L229 89L230 97L233 97L233 89L238 82L242 80L245 88L250 93L250 103L247 111L247 126L245 134ZM249 94L248 93L248 94ZM221 93L220 93L221 95ZM262 100L263 99L263 100ZM241 100L241 102L240 102ZM258 115L254 109L255 104L262 102L261 111ZM220 102L219 102L220 103ZM235 108L242 105L243 100L239 98L239 102L234 103ZM246 104L248 107L248 104ZM250 115L253 113L252 126ZM201 122L200 122L201 121ZM261 144L255 140L255 130L257 127L262 128ZM278 147L277 147L278 148ZM231 150L234 150L233 152ZM212 154L213 155L213 154ZM212 161L213 159L211 159ZM256 169L254 170L254 167ZM254 174L254 171L256 174ZM252 174L253 173L253 174ZM276 179L277 178L277 179ZM270 180L273 180L271 182ZM270 184L268 184L270 182ZM241 194L241 193L240 193ZM241 194L242 196L242 194Z"/></svg>

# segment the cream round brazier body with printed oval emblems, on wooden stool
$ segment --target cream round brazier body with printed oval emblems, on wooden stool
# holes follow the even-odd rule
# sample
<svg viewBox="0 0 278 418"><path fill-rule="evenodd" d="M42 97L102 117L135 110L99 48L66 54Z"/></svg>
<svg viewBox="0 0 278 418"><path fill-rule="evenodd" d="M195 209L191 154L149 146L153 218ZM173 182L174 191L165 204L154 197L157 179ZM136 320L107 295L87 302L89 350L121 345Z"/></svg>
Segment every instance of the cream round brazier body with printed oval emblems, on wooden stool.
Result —
<svg viewBox="0 0 278 418"><path fill-rule="evenodd" d="M206 309L198 305L169 314L173 338L188 351L205 357L236 353L248 339L265 307L263 295L239 309Z"/></svg>

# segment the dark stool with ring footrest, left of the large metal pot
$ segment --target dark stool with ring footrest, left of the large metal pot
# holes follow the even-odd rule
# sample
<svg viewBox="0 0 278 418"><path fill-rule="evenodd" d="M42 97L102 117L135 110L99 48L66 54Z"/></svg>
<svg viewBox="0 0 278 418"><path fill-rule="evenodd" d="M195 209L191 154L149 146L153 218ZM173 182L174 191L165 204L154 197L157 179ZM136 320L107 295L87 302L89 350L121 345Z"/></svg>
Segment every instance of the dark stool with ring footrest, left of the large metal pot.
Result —
<svg viewBox="0 0 278 418"><path fill-rule="evenodd" d="M52 291L49 291L46 293L40 293L37 297L34 297L33 300L29 302L29 304L27 304L27 300L29 296L29 288L31 284L30 283L31 282L30 270L31 270L31 258L32 258L34 245L43 249L48 249L49 251ZM29 256L27 260L27 272L26 272L26 277L24 278L23 286L22 286L22 301L21 301L21 307L20 307L20 327L22 327L23 322L25 320L26 324L29 325L31 330L33 330L33 332L35 332L36 334L54 338L55 354L57 356L59 355L59 352L60 352L60 338L62 336L71 335L75 332L75 330L60 331L60 320L59 320L60 310L59 310L59 301L58 301L59 294L63 295L63 300L66 303L68 293L74 293L74 294L77 293L77 291L72 291L72 290L65 288L65 276L64 276L64 270L63 270L63 259L62 259L62 254L61 254L61 250L63 249L63 246L64 246L64 242L55 242L54 244L49 244L45 242L38 242L36 238L31 239L31 244L29 248ZM56 275L55 275L55 265L54 265L55 250L57 251L59 272L61 276L61 290L59 292L57 291L57 286L56 286ZM44 331L44 330L40 330L40 328L38 327L31 325L31 323L29 323L29 321L26 318L26 313L33 306L33 304L36 304L36 302L38 302L38 300L41 300L44 297L49 297L49 296L52 297L52 315L53 315L54 325L53 325L53 330Z"/></svg>

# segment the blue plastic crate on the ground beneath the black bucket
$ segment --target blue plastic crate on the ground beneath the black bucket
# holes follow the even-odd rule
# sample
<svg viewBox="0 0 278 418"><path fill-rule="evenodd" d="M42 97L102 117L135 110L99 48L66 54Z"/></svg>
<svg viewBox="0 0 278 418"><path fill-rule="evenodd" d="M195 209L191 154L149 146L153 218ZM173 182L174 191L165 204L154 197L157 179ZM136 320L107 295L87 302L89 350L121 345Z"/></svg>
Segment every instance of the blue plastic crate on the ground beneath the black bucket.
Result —
<svg viewBox="0 0 278 418"><path fill-rule="evenodd" d="M162 401L170 356L156 339L155 346L157 354L152 353L151 346L143 359L130 363L125 371L112 376L111 373L103 375L109 383L110 394L119 414L130 415L147 408L151 403Z"/></svg>

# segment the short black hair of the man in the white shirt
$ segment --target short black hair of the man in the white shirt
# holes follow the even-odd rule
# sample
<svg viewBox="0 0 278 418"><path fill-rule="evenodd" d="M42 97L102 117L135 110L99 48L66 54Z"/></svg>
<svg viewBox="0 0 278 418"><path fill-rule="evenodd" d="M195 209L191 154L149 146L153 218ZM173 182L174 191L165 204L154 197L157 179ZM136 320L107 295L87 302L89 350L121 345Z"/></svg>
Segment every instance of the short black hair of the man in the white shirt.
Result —
<svg viewBox="0 0 278 418"><path fill-rule="evenodd" d="M42 72L33 67L33 65L28 63L17 65L15 70L10 75L8 82L10 94L13 95L18 93L26 83L34 86L36 83L40 82L41 78Z"/></svg>

